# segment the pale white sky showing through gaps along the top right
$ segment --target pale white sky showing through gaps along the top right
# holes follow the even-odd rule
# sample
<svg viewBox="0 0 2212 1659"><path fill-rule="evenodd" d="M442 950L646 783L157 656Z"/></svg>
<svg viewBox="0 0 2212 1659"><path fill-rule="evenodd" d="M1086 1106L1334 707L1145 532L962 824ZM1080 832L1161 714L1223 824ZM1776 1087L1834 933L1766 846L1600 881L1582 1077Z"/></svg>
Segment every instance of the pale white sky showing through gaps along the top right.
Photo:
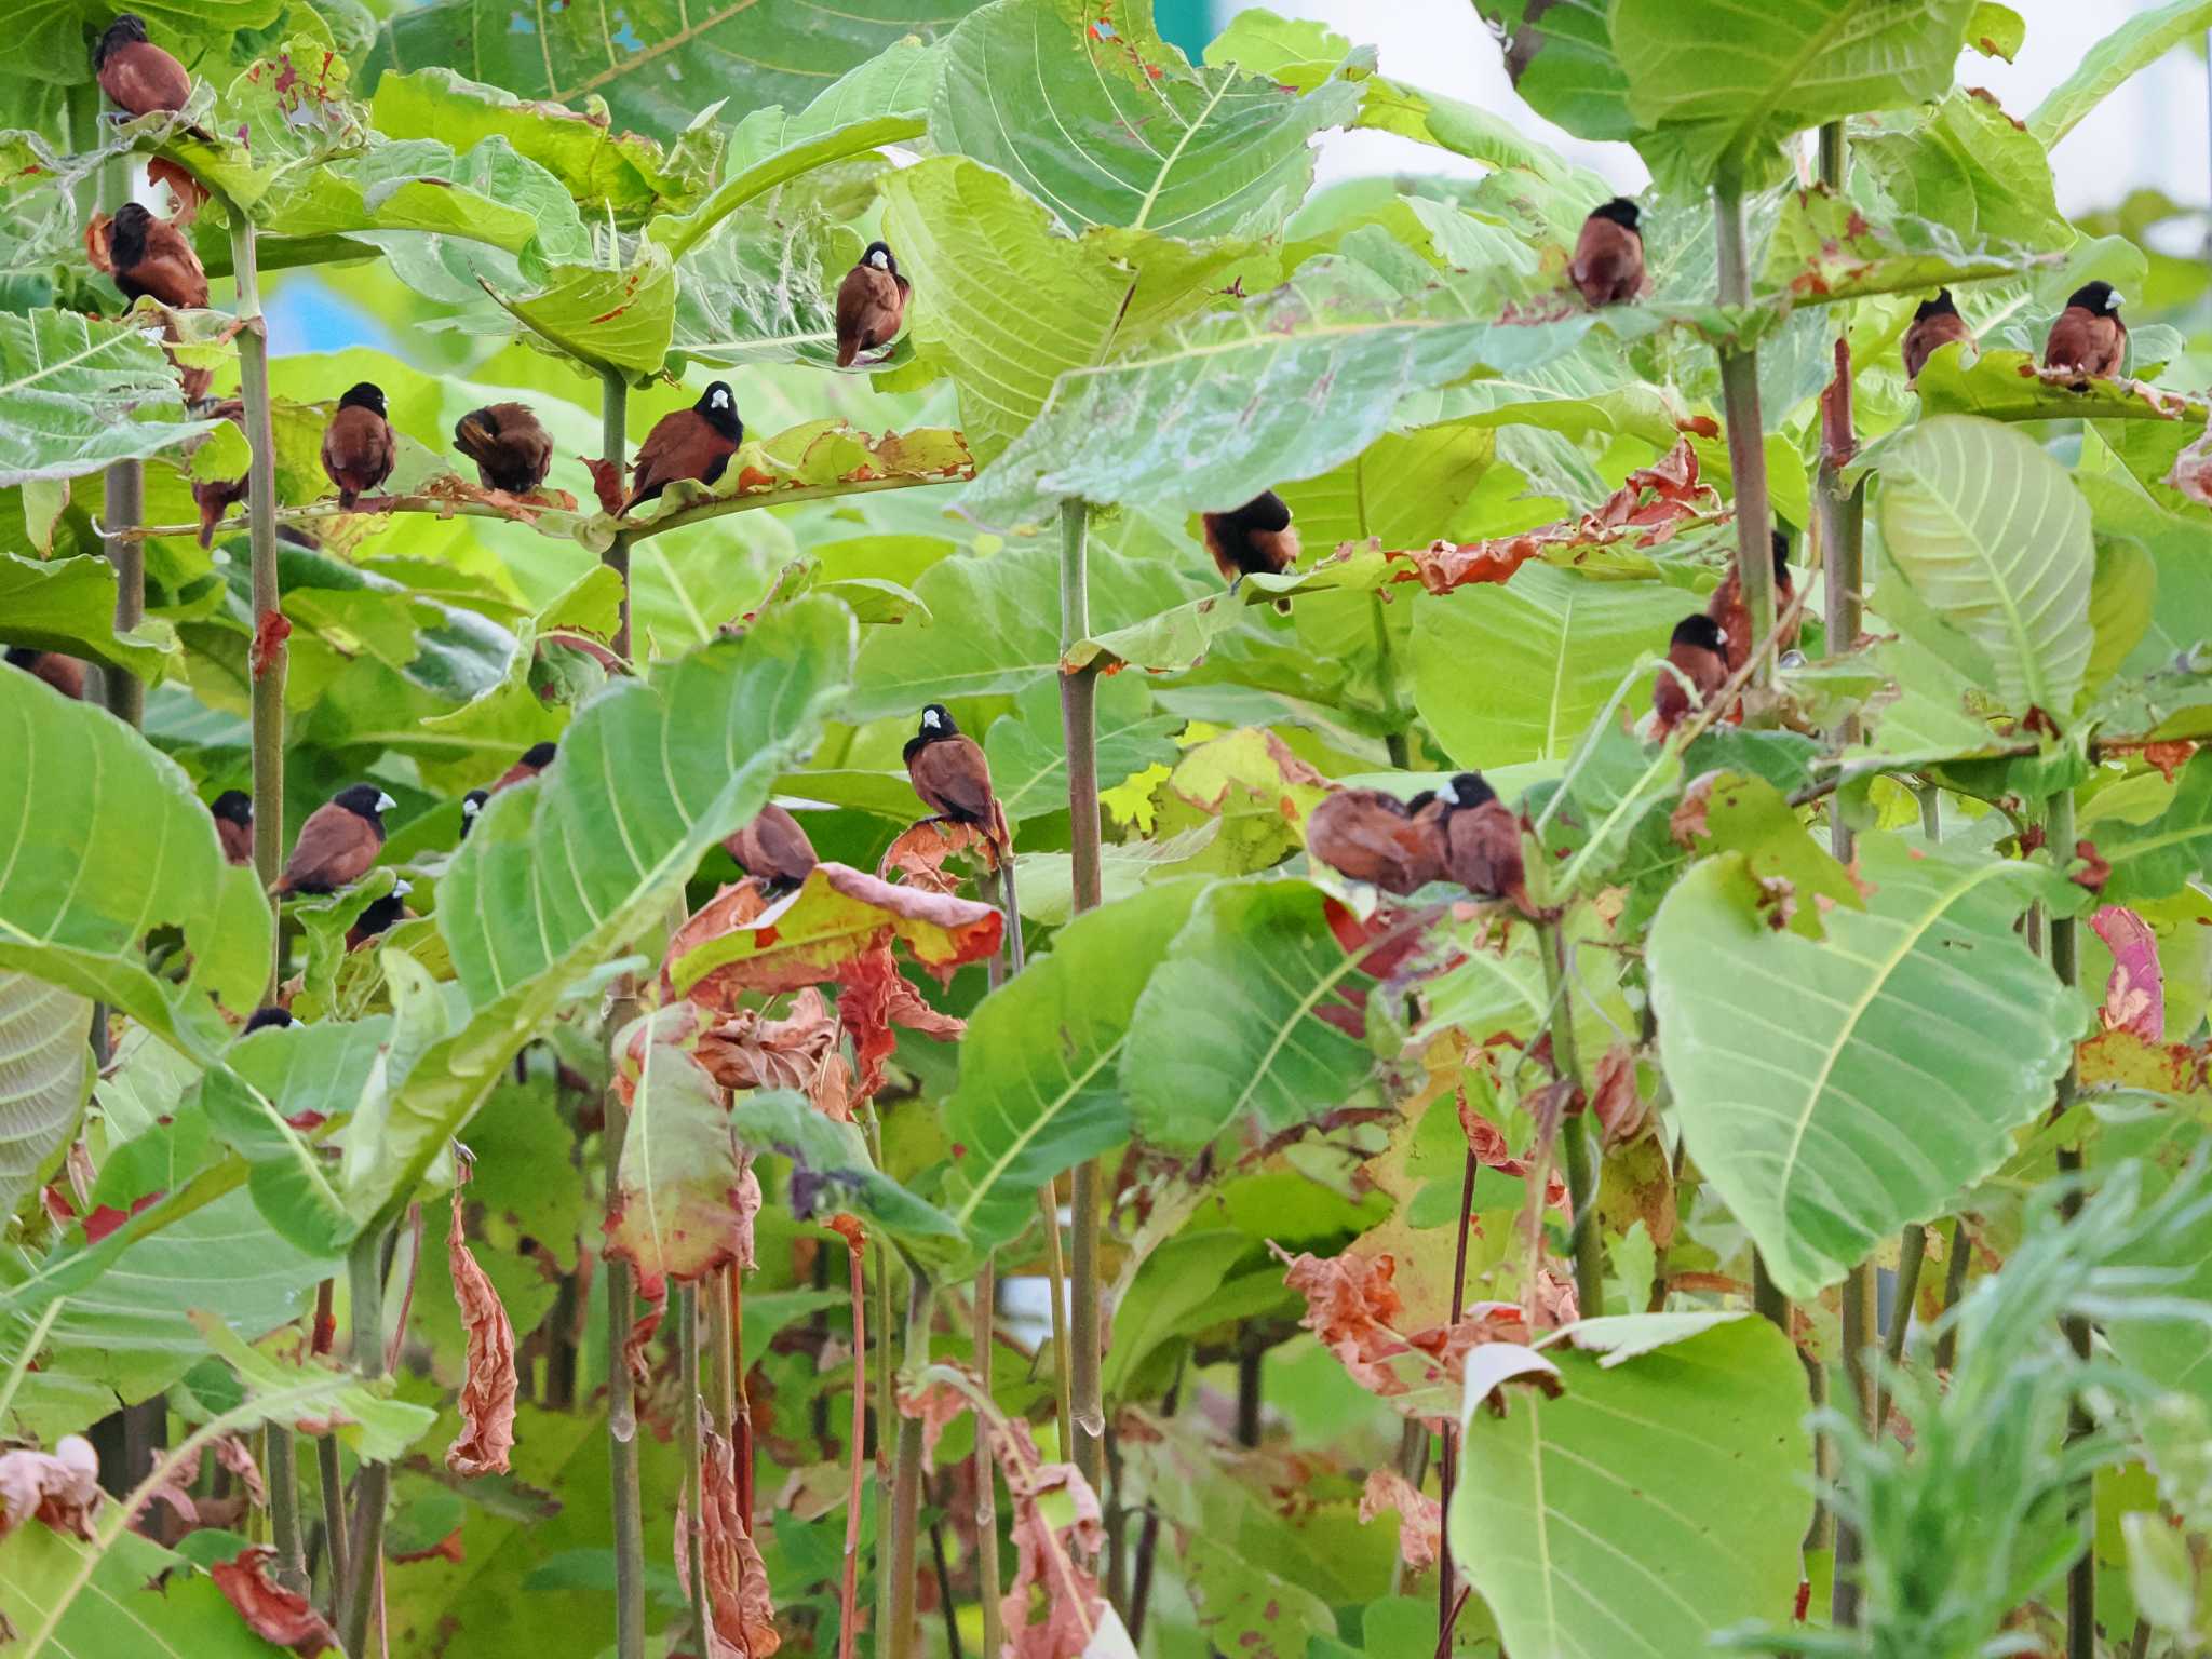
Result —
<svg viewBox="0 0 2212 1659"><path fill-rule="evenodd" d="M1624 190L1646 181L1644 164L1626 144L1584 144L1533 115L1506 80L1498 42L1469 0L1261 0L1270 11L1327 22L1354 42L1374 44L1383 73L1464 97L1515 124L1546 135L1555 148L1604 173ZM1986 86L2011 115L2026 117L2081 62L2081 53L2152 0L2011 0L2028 22L2020 62L1960 58L1960 82ZM1228 20L1243 0L1217 0ZM2053 153L2059 208L2068 215L2119 204L2126 190L2154 186L2183 206L2203 206L2212 177L2205 135L2205 64L2177 49L2108 97L2095 115L2066 135ZM1321 139L1321 181L1394 173L1436 173L1458 157L1394 137L1391 133L1332 133ZM1473 161L1460 170L1478 173Z"/></svg>

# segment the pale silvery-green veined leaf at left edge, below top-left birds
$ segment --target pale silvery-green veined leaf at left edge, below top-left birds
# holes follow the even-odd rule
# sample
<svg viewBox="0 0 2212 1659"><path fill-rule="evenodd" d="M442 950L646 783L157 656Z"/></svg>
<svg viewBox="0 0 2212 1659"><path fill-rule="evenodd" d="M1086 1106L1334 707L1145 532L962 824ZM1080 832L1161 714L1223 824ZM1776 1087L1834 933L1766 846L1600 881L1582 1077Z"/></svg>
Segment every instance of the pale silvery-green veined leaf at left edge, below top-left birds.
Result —
<svg viewBox="0 0 2212 1659"><path fill-rule="evenodd" d="M0 312L0 489L77 478L212 431L179 420L157 330L75 312Z"/></svg>

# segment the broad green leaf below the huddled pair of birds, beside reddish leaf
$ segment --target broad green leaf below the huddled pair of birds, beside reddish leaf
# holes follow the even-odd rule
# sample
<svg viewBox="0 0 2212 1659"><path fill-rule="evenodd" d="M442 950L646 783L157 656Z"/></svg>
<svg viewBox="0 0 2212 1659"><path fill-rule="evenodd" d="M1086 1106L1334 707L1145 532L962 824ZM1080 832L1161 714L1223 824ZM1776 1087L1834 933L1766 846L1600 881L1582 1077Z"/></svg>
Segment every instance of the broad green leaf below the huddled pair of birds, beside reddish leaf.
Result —
<svg viewBox="0 0 2212 1659"><path fill-rule="evenodd" d="M1323 1011L1360 971L1329 931L1334 900L1303 880L1217 883L1168 947L1121 1051L1139 1133L1197 1150L1234 1124L1272 1135L1340 1106L1374 1071Z"/></svg>

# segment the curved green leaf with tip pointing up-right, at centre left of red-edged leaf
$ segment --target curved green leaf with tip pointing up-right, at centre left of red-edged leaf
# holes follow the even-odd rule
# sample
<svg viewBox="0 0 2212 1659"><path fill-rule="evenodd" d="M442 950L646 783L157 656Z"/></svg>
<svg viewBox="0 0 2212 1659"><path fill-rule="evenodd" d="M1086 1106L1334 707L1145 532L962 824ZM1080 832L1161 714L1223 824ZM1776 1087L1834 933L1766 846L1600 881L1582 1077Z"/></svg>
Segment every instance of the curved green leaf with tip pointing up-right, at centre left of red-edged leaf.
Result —
<svg viewBox="0 0 2212 1659"><path fill-rule="evenodd" d="M978 1250L1018 1239L1046 1181L1128 1139L1124 1037L1201 889L1161 883L1077 916L969 1015L945 1102L960 1148L947 1203Z"/></svg>

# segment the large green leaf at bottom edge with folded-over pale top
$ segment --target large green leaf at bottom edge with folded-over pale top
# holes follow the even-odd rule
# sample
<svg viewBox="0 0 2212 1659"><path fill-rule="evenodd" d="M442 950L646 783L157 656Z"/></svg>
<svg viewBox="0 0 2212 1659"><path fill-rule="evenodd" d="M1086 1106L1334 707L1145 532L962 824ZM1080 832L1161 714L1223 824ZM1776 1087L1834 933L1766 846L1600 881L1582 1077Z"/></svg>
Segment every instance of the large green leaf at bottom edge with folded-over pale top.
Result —
<svg viewBox="0 0 2212 1659"><path fill-rule="evenodd" d="M1747 1316L1657 1343L1644 1323L1584 1321L1544 1349L1559 1398L1511 1387L1504 1416L1480 1398L1462 1413L1451 1546L1515 1659L1705 1652L1732 1624L1781 1621L1796 1593L1812 1515L1783 1473L1812 1455L1796 1347Z"/></svg>

